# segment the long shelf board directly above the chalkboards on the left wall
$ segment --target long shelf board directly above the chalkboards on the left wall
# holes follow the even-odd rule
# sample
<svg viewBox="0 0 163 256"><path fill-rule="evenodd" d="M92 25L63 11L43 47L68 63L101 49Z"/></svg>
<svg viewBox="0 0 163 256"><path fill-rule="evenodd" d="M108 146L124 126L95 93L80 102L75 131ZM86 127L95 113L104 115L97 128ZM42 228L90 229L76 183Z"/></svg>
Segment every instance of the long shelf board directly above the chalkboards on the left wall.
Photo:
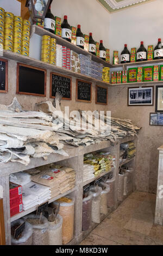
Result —
<svg viewBox="0 0 163 256"><path fill-rule="evenodd" d="M3 56L1 55L1 57L7 58L7 59L13 59L14 61L28 64L30 66L51 70L51 72L57 72L57 73L68 75L68 76L74 76L75 78L83 79L88 82L95 82L97 85L111 86L111 84L103 82L102 80L97 80L95 78L91 78L90 76L86 76L86 75L83 75L83 74L80 74L77 72L73 72L69 69L61 68L61 67L55 66L53 64L48 64L46 62L39 61L38 59L23 56L21 54L15 53L15 52L3 50Z"/></svg>

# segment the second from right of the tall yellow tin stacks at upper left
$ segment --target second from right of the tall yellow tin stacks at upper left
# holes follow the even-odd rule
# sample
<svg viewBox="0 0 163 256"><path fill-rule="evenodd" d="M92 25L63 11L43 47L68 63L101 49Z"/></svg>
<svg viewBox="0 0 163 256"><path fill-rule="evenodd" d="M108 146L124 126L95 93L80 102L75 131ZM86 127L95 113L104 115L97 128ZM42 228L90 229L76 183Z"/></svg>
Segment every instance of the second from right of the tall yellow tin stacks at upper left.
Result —
<svg viewBox="0 0 163 256"><path fill-rule="evenodd" d="M23 19L20 16L14 16L14 47L13 51L20 53L22 51L22 27Z"/></svg>

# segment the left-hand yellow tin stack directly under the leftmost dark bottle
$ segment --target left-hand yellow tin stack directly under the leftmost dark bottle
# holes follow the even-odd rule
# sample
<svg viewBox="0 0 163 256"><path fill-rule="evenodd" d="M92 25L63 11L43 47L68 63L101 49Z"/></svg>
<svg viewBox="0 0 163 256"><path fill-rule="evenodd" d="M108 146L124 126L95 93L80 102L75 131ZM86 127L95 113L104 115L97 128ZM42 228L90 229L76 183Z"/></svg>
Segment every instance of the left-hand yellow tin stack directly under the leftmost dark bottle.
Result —
<svg viewBox="0 0 163 256"><path fill-rule="evenodd" d="M42 36L42 45L41 45L41 61L50 63L51 55L51 37L49 35Z"/></svg>

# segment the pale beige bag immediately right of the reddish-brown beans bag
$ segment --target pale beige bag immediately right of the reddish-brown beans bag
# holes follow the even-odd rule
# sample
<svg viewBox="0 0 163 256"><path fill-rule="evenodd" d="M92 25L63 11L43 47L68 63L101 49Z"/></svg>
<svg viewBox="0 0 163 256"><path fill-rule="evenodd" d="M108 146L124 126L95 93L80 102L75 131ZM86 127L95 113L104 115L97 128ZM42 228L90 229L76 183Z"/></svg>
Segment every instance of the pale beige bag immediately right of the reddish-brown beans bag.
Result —
<svg viewBox="0 0 163 256"><path fill-rule="evenodd" d="M90 186L90 192L92 194L92 222L100 223L100 203L102 188L98 186Z"/></svg>

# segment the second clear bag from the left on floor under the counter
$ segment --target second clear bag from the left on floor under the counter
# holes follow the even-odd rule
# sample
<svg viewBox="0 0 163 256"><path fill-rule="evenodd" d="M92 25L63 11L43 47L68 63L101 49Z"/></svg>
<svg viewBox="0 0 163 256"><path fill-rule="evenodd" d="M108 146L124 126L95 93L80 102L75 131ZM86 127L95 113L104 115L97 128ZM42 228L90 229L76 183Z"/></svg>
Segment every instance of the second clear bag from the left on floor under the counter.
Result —
<svg viewBox="0 0 163 256"><path fill-rule="evenodd" d="M23 217L24 221L32 224L32 245L48 245L48 220L45 216L29 214Z"/></svg>

